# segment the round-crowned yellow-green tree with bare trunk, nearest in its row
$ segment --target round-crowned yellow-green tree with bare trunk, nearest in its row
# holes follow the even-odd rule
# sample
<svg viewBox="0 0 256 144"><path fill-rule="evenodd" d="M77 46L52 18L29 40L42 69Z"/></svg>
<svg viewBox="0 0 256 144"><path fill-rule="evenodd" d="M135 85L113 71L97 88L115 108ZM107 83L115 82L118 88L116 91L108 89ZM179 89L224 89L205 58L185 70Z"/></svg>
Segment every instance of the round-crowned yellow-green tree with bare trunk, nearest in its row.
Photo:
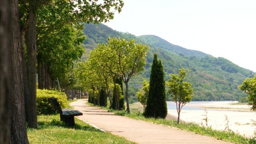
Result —
<svg viewBox="0 0 256 144"><path fill-rule="evenodd" d="M122 78L125 86L126 111L130 113L128 82L130 78L142 70L146 65L148 46L135 44L134 40L126 41L120 38L108 38L108 44L99 45L107 50L102 54L112 63L112 73Z"/></svg>

